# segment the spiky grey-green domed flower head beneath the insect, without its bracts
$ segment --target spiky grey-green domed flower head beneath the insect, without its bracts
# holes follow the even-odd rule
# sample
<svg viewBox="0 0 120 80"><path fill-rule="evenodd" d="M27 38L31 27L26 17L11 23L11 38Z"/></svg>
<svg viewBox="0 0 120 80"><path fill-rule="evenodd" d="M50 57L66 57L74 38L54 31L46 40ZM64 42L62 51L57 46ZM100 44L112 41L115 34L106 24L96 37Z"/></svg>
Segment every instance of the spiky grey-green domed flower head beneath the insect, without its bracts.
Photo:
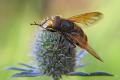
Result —
<svg viewBox="0 0 120 80"><path fill-rule="evenodd" d="M59 32L39 29L34 43L34 58L39 70L59 80L62 74L73 72L75 47Z"/></svg>

